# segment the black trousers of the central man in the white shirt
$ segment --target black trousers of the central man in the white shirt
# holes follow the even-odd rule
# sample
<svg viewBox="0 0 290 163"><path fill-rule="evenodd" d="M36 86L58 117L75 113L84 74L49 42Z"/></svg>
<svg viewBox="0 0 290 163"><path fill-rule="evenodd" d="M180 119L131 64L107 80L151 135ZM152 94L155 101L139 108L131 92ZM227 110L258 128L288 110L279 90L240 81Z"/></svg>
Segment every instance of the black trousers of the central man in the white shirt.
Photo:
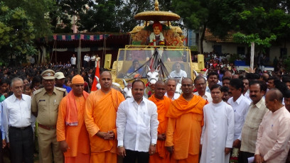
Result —
<svg viewBox="0 0 290 163"><path fill-rule="evenodd" d="M149 152L138 152L134 150L126 150L126 156L123 159L123 163L135 163L136 159L138 163L148 163Z"/></svg>

